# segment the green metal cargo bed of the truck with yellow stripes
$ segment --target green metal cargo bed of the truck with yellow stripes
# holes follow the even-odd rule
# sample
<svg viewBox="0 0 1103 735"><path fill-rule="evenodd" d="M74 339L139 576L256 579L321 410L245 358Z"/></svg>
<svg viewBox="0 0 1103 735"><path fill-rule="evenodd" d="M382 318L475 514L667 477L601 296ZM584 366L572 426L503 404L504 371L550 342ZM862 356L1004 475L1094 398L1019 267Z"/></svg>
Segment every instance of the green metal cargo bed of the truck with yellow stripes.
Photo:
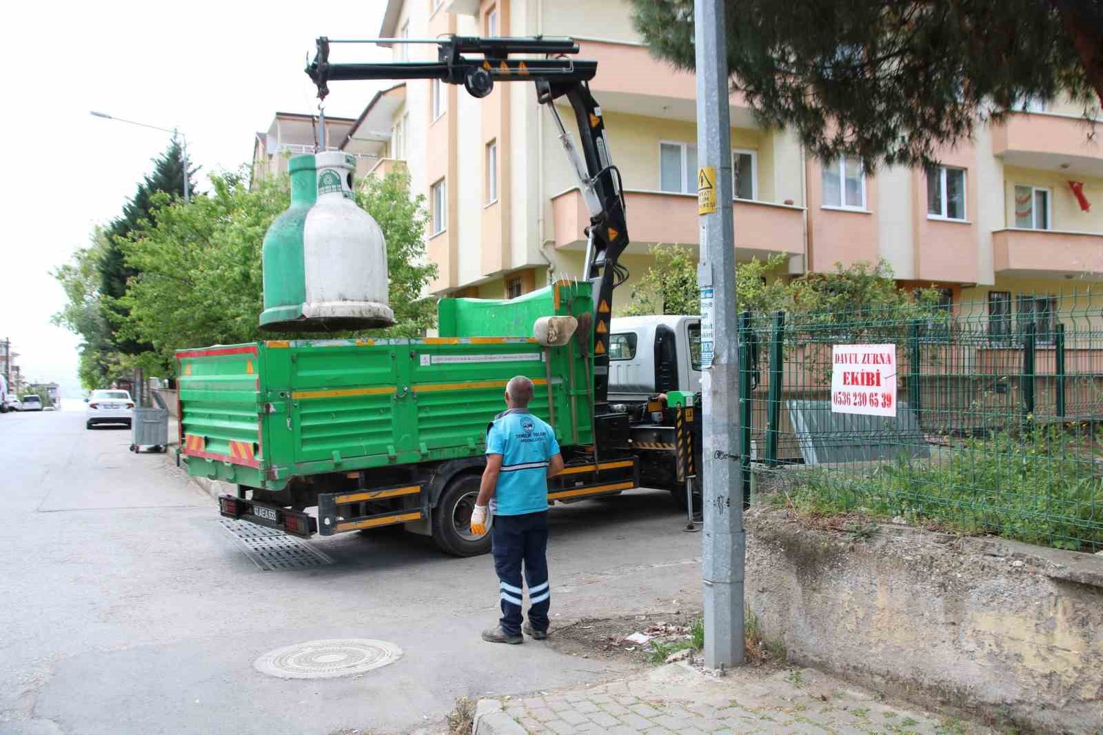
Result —
<svg viewBox="0 0 1103 735"><path fill-rule="evenodd" d="M190 475L280 490L292 478L482 457L514 375L561 445L592 441L589 356L544 348L544 316L589 315L590 284L508 301L442 299L427 339L270 340L180 350L180 450ZM591 350L586 335L586 353Z"/></svg>

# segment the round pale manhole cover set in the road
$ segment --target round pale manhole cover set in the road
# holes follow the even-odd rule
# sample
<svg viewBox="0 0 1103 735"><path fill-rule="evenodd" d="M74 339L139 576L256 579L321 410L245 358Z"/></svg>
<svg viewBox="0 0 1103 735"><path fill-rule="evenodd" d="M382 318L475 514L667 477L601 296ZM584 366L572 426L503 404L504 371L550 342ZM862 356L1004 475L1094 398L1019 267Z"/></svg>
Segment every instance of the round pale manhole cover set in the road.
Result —
<svg viewBox="0 0 1103 735"><path fill-rule="evenodd" d="M403 649L385 640L336 638L278 648L254 665L260 673L281 679L329 679L378 669L401 656Z"/></svg>

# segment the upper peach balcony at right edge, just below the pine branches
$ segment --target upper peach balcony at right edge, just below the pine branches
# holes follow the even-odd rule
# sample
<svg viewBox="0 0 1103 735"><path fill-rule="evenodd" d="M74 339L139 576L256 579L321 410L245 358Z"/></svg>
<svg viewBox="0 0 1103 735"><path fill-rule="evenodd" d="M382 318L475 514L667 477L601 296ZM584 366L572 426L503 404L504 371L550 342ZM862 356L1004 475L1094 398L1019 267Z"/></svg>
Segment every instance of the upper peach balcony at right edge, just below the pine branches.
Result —
<svg viewBox="0 0 1103 735"><path fill-rule="evenodd" d="M1089 140L1090 132L1081 117L1011 113L993 128L992 152L1008 166L1103 177L1103 145Z"/></svg>

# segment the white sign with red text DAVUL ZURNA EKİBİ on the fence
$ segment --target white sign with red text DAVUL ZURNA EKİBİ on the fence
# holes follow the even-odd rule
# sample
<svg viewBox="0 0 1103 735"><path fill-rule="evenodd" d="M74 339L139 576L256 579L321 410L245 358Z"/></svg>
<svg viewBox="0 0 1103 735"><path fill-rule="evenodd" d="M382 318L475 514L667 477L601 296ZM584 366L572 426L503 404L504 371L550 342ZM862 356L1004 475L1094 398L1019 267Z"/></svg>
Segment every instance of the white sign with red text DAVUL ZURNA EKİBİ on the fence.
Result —
<svg viewBox="0 0 1103 735"><path fill-rule="evenodd" d="M832 347L831 409L896 416L896 344Z"/></svg>

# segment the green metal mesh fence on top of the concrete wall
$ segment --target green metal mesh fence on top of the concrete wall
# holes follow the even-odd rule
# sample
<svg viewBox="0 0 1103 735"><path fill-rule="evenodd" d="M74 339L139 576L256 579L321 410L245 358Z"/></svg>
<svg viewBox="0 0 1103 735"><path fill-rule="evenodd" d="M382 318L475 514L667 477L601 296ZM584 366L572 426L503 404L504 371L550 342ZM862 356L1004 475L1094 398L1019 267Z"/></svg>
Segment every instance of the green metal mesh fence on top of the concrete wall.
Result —
<svg viewBox="0 0 1103 735"><path fill-rule="evenodd" d="M748 502L753 479L759 497L824 516L1103 548L1103 299L994 291L739 324ZM855 401L884 405L895 381L895 416L833 404L833 348L854 344L891 345L896 374Z"/></svg>

